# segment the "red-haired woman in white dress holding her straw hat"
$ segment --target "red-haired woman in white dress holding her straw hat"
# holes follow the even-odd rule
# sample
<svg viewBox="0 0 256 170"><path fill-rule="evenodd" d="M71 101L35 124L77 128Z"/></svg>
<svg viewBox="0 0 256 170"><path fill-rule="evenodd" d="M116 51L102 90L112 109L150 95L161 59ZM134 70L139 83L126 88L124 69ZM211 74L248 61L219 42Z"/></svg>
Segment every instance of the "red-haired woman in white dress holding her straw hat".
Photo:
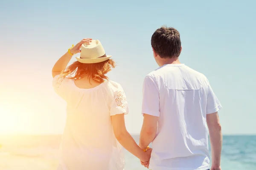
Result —
<svg viewBox="0 0 256 170"><path fill-rule="evenodd" d="M78 61L67 67L79 52ZM67 102L58 170L123 170L122 146L141 161L149 161L125 128L125 93L106 76L115 67L110 58L99 40L86 38L52 68L54 89Z"/></svg>

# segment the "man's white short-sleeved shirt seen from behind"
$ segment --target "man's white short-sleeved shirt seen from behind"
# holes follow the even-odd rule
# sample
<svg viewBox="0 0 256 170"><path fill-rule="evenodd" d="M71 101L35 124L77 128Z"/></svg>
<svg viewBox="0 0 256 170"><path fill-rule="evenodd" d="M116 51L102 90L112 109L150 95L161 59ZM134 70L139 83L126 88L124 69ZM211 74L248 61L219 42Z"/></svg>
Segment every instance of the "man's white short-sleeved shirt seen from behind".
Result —
<svg viewBox="0 0 256 170"><path fill-rule="evenodd" d="M208 170L206 115L221 109L207 78L184 64L145 77L142 113L159 117L149 169Z"/></svg>

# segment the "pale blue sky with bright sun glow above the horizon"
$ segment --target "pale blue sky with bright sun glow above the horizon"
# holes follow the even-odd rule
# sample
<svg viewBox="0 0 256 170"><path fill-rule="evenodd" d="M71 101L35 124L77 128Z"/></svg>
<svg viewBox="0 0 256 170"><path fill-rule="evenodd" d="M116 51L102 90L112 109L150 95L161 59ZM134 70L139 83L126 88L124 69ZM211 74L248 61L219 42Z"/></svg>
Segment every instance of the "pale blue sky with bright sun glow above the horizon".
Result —
<svg viewBox="0 0 256 170"><path fill-rule="evenodd" d="M0 6L0 133L61 133L65 102L51 69L83 38L99 39L127 95L126 125L139 133L143 78L158 66L150 44L162 25L180 32L180 61L203 73L221 102L224 134L256 134L253 0L9 0ZM72 60L72 62L75 59Z"/></svg>

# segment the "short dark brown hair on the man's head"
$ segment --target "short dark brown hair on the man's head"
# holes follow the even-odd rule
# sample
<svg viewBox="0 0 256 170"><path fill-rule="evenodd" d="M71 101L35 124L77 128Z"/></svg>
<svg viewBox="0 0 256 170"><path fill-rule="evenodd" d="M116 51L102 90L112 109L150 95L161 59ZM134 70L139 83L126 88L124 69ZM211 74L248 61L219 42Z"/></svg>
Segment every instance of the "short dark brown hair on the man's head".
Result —
<svg viewBox="0 0 256 170"><path fill-rule="evenodd" d="M179 57L181 50L180 33L173 27L162 26L152 35L151 46L160 58Z"/></svg>

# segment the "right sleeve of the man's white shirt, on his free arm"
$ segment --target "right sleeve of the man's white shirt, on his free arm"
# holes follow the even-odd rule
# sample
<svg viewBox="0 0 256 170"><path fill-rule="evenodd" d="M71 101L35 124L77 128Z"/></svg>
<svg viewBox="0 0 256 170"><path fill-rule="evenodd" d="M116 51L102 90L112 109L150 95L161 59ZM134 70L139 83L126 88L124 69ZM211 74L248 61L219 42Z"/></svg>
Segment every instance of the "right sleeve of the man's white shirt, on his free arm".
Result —
<svg viewBox="0 0 256 170"><path fill-rule="evenodd" d="M212 87L208 85L208 95L207 95L207 106L206 106L206 113L215 113L218 112L219 109L221 109L222 106L220 102L218 101L218 98L214 94Z"/></svg>

